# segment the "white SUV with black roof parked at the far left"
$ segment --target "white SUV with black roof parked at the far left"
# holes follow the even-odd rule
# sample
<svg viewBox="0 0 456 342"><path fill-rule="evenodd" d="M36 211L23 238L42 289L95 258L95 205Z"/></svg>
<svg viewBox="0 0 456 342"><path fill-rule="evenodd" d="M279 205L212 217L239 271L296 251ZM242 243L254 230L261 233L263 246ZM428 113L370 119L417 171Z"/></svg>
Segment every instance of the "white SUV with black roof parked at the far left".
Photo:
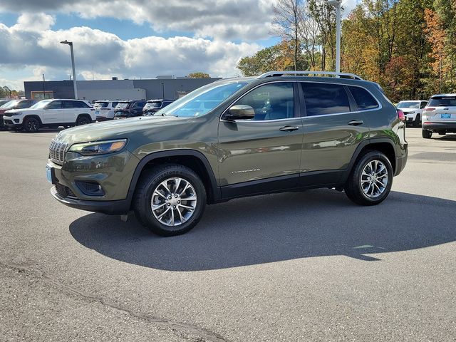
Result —
<svg viewBox="0 0 456 342"><path fill-rule="evenodd" d="M41 127L70 127L95 121L95 109L88 101L72 99L41 100L30 108L7 110L7 128L36 132Z"/></svg>

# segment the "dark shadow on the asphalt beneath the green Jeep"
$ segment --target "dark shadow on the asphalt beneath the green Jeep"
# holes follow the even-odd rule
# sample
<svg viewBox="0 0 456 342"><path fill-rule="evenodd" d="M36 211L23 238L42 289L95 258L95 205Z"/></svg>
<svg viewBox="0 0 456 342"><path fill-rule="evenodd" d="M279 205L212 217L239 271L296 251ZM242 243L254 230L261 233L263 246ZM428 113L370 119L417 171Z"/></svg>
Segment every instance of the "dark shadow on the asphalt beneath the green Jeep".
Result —
<svg viewBox="0 0 456 342"><path fill-rule="evenodd" d="M178 237L151 234L134 217L124 223L103 214L76 219L70 232L107 257L170 271L331 255L377 261L378 253L455 241L455 209L455 201L403 192L360 207L341 192L309 190L209 206L197 227Z"/></svg>

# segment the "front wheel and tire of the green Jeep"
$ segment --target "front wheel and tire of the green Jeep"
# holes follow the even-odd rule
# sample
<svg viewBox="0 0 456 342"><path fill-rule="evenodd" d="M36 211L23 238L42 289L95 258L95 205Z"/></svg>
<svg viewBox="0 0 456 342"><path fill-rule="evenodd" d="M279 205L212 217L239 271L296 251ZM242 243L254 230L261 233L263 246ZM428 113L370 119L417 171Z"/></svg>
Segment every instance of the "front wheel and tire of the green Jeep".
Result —
<svg viewBox="0 0 456 342"><path fill-rule="evenodd" d="M135 216L163 237L190 231L201 219L205 207L206 190L202 181L193 170L182 165L168 164L147 170L136 185Z"/></svg>

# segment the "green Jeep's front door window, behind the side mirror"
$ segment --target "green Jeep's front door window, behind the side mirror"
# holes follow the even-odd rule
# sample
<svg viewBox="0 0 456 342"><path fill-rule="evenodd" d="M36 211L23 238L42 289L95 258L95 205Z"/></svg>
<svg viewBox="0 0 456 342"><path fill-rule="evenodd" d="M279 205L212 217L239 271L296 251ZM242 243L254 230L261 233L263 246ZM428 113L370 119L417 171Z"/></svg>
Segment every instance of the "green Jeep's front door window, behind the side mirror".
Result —
<svg viewBox="0 0 456 342"><path fill-rule="evenodd" d="M254 108L253 120L278 120L294 118L293 83L271 83L260 86L240 98L235 105Z"/></svg>

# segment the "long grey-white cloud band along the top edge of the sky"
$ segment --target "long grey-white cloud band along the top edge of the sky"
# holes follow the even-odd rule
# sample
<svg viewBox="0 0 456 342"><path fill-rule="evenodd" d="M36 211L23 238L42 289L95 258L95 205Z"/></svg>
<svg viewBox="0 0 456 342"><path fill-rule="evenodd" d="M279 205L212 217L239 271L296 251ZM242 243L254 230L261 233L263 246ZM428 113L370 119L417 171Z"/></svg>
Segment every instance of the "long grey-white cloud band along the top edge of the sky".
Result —
<svg viewBox="0 0 456 342"><path fill-rule="evenodd" d="M207 38L267 38L276 0L2 0L0 11L53 11L83 18L112 17L156 31L187 31Z"/></svg>

